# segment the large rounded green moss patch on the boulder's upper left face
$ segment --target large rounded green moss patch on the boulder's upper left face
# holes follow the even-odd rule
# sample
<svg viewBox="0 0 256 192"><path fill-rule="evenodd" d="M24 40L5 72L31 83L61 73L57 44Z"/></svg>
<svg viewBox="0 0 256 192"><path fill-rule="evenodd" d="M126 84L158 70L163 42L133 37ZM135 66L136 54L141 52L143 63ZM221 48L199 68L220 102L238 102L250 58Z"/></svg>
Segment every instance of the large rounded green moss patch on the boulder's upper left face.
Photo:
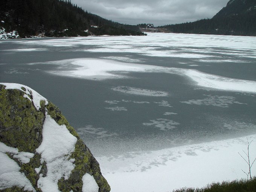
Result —
<svg viewBox="0 0 256 192"><path fill-rule="evenodd" d="M17 89L0 85L0 141L19 151L35 152L42 142L45 114Z"/></svg>

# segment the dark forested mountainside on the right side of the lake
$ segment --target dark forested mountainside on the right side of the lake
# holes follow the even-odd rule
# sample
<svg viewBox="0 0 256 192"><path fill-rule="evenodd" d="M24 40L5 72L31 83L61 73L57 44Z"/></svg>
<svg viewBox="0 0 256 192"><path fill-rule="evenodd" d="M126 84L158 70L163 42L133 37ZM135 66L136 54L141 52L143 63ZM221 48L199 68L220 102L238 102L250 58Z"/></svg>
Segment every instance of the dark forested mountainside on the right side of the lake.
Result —
<svg viewBox="0 0 256 192"><path fill-rule="evenodd" d="M169 32L188 34L256 36L256 1L230 0L213 18L159 26Z"/></svg>

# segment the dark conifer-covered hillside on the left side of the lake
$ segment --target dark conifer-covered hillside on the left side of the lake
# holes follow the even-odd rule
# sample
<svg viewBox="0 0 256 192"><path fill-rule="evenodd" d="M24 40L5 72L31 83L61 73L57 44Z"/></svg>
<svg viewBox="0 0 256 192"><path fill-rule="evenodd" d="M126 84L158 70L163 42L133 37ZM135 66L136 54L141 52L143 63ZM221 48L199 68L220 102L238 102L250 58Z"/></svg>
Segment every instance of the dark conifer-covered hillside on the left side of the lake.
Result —
<svg viewBox="0 0 256 192"><path fill-rule="evenodd" d="M20 37L77 37L88 35L145 35L138 26L104 19L70 0L2 0L1 26Z"/></svg>

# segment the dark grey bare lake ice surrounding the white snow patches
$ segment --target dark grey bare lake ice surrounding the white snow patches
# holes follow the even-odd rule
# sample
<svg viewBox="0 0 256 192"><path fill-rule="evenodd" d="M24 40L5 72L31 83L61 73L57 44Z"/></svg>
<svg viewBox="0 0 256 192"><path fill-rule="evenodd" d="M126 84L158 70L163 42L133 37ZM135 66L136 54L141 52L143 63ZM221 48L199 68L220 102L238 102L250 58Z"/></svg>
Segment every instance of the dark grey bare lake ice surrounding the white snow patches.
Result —
<svg viewBox="0 0 256 192"><path fill-rule="evenodd" d="M136 52L85 51L102 47L103 40L96 41L93 38L97 40L97 37L91 37L87 41L90 40L92 43L72 46L47 44L47 41L55 40L52 38L1 41L0 82L27 85L52 101L96 155L156 150L256 133L255 92L204 88L186 76L160 72L129 72L125 74L128 78L101 81L71 78L47 72L70 70L72 65L60 69L55 64L45 64L48 61L63 59L97 59L115 56L143 61L134 62L138 64L196 69L212 75L256 81L256 58L250 55L244 56L253 55L256 47L240 50L212 46L207 59L214 60L218 57L223 61L209 62L199 61L207 60L206 58L149 56ZM108 37L104 38L108 40ZM117 39L111 40L110 44L115 45L118 37L115 38ZM75 40L75 38L56 40L66 42L70 39ZM69 41L66 43L69 44ZM143 46L143 41L139 45ZM146 45L154 49L154 45ZM197 47L196 44L187 47L197 49L195 52L201 50L203 55L208 54L204 53L205 50L209 50L209 48ZM155 49L190 53L186 50L187 47L155 46ZM234 50L236 53L231 56L224 54L232 53ZM227 59L233 62L226 62ZM115 74L121 73L115 72ZM116 87L164 91L168 95L128 94L113 90Z"/></svg>

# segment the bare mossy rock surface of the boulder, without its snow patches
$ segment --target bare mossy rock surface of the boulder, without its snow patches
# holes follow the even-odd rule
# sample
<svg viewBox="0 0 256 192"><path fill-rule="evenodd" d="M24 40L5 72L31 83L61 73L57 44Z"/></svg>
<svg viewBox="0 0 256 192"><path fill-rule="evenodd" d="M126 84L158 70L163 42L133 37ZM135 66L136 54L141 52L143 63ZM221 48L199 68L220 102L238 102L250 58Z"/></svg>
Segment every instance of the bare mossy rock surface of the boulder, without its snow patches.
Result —
<svg viewBox="0 0 256 192"><path fill-rule="evenodd" d="M42 192L37 187L39 175L47 175L46 162L41 162L41 155L36 149L41 145L43 140L42 130L46 113L49 114L59 125L66 125L69 132L78 140L75 144L75 150L70 155L70 159L75 159L75 168L72 170L70 177L65 180L64 177L58 181L59 190L62 192L81 192L82 177L85 173L93 175L99 186L99 192L109 192L110 186L107 180L102 176L99 163L91 154L90 150L80 139L75 129L67 122L58 107L52 102L41 100L40 109L34 106L31 101L32 94L25 93L26 86L19 89L5 89L5 85L0 84L0 142L7 146L17 148L19 152L30 152L34 157L30 158L29 163L21 163L9 155L20 166L20 172L23 172L31 182L37 192ZM25 92L24 92L25 91ZM24 97L24 94L27 94ZM29 99L30 98L30 99ZM39 173L35 168L41 166ZM13 186L0 190L0 192L21 192L22 188Z"/></svg>

